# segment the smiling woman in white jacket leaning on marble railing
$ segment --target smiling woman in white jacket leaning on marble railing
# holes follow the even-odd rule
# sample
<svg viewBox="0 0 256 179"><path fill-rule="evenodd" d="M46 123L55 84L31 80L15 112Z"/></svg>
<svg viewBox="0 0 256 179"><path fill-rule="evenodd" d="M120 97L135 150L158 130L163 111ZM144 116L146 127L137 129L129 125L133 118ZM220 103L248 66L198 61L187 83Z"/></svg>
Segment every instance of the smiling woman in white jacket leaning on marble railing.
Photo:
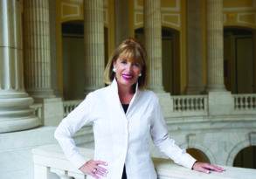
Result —
<svg viewBox="0 0 256 179"><path fill-rule="evenodd" d="M146 90L146 53L135 39L119 45L109 60L105 78L110 86L89 93L61 121L55 138L77 169L88 178L156 179L149 140L177 164L209 173L222 168L196 162L168 135L156 94ZM93 123L94 159L85 161L72 139L81 127Z"/></svg>

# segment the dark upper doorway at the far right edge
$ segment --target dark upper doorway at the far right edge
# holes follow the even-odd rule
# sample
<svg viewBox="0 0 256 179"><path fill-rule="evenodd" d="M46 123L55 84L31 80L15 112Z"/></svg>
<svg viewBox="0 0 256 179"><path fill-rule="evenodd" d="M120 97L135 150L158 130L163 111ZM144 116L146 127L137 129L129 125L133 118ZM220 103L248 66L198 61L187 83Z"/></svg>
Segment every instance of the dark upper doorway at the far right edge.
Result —
<svg viewBox="0 0 256 179"><path fill-rule="evenodd" d="M225 86L232 93L255 92L255 52L253 46L252 30L225 28Z"/></svg>

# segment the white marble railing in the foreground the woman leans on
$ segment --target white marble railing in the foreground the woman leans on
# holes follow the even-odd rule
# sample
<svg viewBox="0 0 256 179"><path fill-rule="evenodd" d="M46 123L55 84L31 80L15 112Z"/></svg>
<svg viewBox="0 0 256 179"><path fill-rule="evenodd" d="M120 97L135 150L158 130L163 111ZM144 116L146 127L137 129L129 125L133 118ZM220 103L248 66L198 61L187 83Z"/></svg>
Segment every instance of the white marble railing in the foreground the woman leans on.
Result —
<svg viewBox="0 0 256 179"><path fill-rule="evenodd" d="M86 160L93 158L93 150L89 148L80 148L80 153ZM56 179L51 176L52 173L59 178L85 179L80 170L75 169L73 165L66 160L58 145L47 145L32 149L34 162L35 179ZM156 172L159 179L254 179L255 169L242 169L224 166L225 172L204 174L190 169L185 169L176 165L170 160L154 158Z"/></svg>

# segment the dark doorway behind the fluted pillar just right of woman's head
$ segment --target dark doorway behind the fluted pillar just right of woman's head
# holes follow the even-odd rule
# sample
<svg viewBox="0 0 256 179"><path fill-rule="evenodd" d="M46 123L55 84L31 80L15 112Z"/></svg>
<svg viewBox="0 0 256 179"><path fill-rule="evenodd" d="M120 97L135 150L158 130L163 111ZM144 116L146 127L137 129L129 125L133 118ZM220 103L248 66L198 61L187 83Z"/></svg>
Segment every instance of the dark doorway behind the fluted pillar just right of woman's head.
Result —
<svg viewBox="0 0 256 179"><path fill-rule="evenodd" d="M145 44L144 30L135 30L135 38ZM179 31L162 28L163 89L171 94L180 94Z"/></svg>

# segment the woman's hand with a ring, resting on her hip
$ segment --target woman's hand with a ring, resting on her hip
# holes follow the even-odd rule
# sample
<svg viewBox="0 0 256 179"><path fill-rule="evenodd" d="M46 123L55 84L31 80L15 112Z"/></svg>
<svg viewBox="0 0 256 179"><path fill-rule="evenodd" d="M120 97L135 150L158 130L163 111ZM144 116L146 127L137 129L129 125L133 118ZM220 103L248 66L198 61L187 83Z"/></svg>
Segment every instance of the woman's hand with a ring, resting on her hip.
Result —
<svg viewBox="0 0 256 179"><path fill-rule="evenodd" d="M99 179L100 176L107 176L107 169L99 165L107 166L107 162L90 160L80 167L80 171L97 179Z"/></svg>

